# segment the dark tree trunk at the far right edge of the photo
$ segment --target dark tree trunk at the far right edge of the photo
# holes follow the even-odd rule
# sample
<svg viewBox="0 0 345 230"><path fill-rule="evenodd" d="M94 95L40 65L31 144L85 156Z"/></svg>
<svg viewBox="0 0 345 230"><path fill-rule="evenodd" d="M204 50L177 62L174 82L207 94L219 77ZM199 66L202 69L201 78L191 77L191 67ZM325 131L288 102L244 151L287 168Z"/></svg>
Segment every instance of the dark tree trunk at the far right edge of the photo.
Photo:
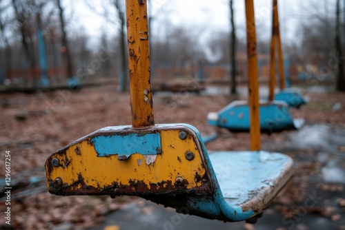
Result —
<svg viewBox="0 0 345 230"><path fill-rule="evenodd" d="M344 61L342 61L343 50L342 41L340 39L340 1L337 0L337 12L335 21L335 50L337 56L338 70L337 70L337 83L336 90L345 92L345 77L344 77Z"/></svg>

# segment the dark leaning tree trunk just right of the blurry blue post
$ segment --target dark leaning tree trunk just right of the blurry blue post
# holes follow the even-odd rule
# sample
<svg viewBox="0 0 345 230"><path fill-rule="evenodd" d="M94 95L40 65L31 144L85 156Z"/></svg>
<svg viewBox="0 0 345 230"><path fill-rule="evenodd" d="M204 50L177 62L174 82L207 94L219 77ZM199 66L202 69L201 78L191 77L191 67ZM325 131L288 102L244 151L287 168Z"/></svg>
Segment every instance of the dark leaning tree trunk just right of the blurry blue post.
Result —
<svg viewBox="0 0 345 230"><path fill-rule="evenodd" d="M70 49L68 48L68 40L67 40L67 33L66 33L66 23L65 19L63 17L63 8L61 6L61 1L57 0L57 8L59 8L59 19L60 19L60 26L61 26L61 43L64 48L63 50L63 59L66 61L67 65L67 77L68 79L71 79L73 76L72 72L72 59L70 56Z"/></svg>

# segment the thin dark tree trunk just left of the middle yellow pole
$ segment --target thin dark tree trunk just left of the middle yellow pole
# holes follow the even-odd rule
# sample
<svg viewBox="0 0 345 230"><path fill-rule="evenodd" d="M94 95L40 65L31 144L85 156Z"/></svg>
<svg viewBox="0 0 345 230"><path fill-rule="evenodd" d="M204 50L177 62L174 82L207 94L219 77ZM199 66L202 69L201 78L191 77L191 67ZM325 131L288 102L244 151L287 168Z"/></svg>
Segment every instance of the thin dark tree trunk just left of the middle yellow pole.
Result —
<svg viewBox="0 0 345 230"><path fill-rule="evenodd" d="M230 0L230 23L231 23L231 39L230 39L230 67L231 67L231 88L230 94L236 94L236 34L233 11L233 0Z"/></svg>

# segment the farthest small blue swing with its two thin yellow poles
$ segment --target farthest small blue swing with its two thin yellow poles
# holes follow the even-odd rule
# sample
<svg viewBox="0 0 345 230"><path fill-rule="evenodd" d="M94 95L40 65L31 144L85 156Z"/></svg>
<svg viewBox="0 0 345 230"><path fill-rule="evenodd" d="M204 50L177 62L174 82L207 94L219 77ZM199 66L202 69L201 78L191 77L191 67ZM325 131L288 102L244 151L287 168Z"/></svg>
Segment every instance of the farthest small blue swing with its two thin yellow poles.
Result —
<svg viewBox="0 0 345 230"><path fill-rule="evenodd" d="M278 46L278 62L279 62L279 92L275 93L275 46ZM284 61L282 51L282 41L280 40L279 32L279 17L277 0L273 0L273 23L272 23L272 38L270 41L270 93L269 101L284 101L290 107L301 107L306 104L309 99L302 96L301 90L297 88L286 88L284 73Z"/></svg>

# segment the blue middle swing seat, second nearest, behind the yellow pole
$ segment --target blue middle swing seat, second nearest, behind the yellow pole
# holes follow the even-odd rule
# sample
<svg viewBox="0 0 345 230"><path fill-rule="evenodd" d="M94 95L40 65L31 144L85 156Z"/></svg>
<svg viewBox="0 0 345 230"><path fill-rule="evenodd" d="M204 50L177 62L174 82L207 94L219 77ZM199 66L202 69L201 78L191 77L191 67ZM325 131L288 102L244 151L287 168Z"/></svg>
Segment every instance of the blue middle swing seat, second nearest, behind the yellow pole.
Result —
<svg viewBox="0 0 345 230"><path fill-rule="evenodd" d="M288 129L299 129L303 119L293 119L288 105L284 101L260 101L261 132L282 132ZM233 101L219 112L208 114L208 125L229 129L230 132L249 132L250 118L247 101Z"/></svg>

